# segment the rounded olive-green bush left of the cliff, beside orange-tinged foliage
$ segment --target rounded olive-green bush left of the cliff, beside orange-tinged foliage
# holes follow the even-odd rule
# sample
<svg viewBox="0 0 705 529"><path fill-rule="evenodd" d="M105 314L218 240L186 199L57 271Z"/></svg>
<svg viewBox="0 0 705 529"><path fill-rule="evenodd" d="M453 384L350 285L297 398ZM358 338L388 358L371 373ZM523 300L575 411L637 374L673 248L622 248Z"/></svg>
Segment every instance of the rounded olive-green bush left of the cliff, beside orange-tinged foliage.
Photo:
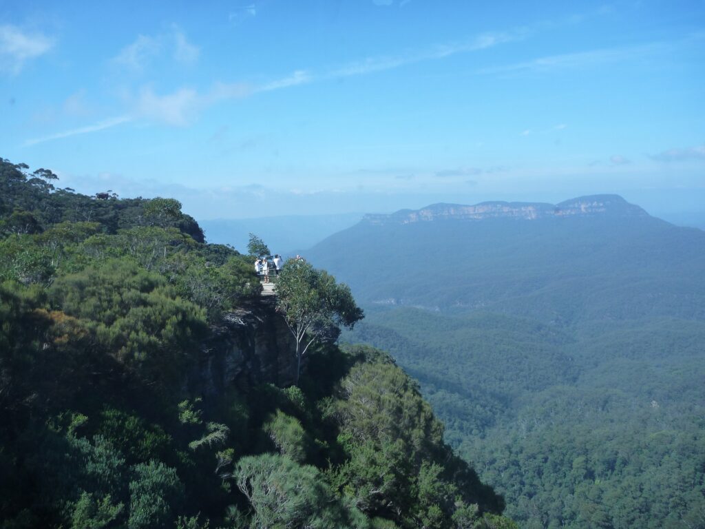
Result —
<svg viewBox="0 0 705 529"><path fill-rule="evenodd" d="M86 322L97 346L159 384L180 383L207 332L201 308L178 298L162 276L129 261L62 276L49 297Z"/></svg>

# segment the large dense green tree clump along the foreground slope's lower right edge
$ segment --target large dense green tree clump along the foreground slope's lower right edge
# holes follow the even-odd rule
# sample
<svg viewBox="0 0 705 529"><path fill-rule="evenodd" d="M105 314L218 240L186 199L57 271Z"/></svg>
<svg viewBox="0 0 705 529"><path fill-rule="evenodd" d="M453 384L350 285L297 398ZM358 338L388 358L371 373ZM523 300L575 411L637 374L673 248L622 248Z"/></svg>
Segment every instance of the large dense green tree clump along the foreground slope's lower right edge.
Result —
<svg viewBox="0 0 705 529"><path fill-rule="evenodd" d="M341 425L338 442L348 455L331 473L341 492L401 527L455 527L454 516L472 504L501 510L502 499L443 443L443 426L417 385L376 351L350 353L376 360L350 370L327 411Z"/></svg>

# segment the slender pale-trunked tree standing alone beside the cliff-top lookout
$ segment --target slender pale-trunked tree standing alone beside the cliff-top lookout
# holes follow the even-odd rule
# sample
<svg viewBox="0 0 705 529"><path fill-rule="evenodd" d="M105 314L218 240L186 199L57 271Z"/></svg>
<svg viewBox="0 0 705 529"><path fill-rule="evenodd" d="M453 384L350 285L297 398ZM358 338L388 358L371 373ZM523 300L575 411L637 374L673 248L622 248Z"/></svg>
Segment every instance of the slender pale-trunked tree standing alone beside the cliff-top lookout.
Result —
<svg viewBox="0 0 705 529"><path fill-rule="evenodd" d="M302 260L288 260L276 283L276 309L283 315L296 341L296 384L301 359L314 341L338 336L337 330L353 328L364 317L350 287L337 284L325 270Z"/></svg>

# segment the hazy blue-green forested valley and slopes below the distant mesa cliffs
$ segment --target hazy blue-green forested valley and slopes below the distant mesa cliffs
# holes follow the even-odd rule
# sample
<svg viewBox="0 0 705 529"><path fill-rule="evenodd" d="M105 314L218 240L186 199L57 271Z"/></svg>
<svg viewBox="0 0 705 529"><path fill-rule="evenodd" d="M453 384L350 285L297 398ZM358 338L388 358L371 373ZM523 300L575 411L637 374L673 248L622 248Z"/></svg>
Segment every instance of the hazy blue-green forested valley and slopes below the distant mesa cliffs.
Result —
<svg viewBox="0 0 705 529"><path fill-rule="evenodd" d="M522 527L705 527L705 233L610 200L360 223L307 255L367 300L343 339L419 380Z"/></svg>

